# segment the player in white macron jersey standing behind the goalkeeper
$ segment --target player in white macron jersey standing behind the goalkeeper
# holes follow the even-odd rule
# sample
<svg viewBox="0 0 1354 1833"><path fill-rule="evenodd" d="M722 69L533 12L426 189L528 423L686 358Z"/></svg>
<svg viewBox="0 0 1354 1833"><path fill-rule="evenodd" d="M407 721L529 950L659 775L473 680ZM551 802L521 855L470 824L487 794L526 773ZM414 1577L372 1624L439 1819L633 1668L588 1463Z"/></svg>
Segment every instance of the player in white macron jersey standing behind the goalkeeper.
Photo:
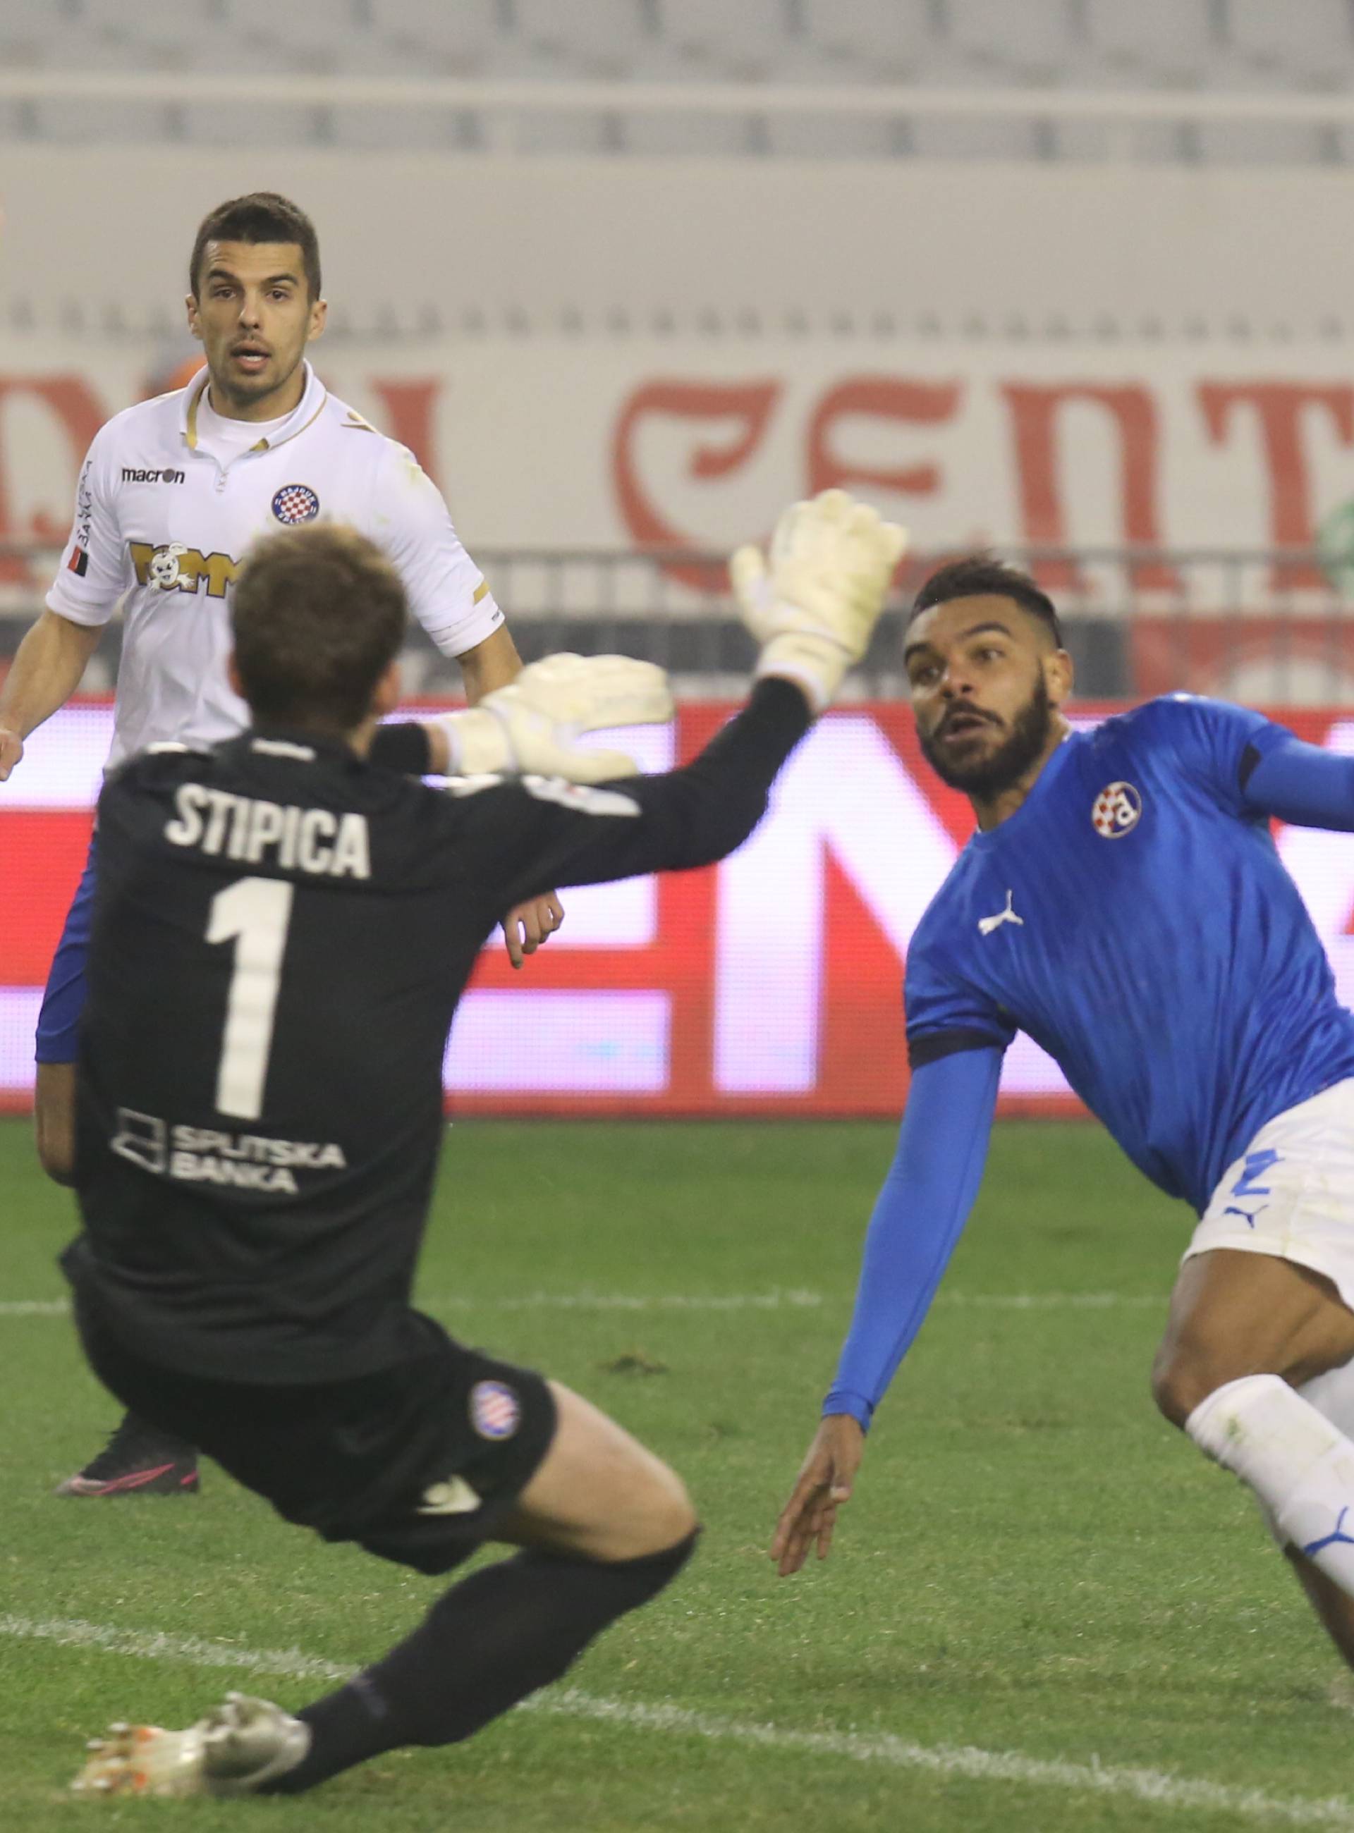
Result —
<svg viewBox="0 0 1354 1833"><path fill-rule="evenodd" d="M305 359L325 328L310 218L253 192L204 218L189 262L187 317L205 367L174 394L116 414L81 467L75 524L48 609L0 689L0 781L28 735L75 691L114 610L123 609L110 764L152 742L215 744L248 724L226 678L229 599L250 544L279 526L349 522L391 557L409 607L461 662L479 700L521 660L503 612L462 548L446 504L404 445L325 389ZM391 735L387 763L400 764ZM380 757L380 750L376 753ZM39 1157L59 1182L73 1160L75 1039L94 891L90 849L37 1036ZM563 918L554 896L505 913L514 966ZM196 1490L191 1446L119 1432L64 1494Z"/></svg>

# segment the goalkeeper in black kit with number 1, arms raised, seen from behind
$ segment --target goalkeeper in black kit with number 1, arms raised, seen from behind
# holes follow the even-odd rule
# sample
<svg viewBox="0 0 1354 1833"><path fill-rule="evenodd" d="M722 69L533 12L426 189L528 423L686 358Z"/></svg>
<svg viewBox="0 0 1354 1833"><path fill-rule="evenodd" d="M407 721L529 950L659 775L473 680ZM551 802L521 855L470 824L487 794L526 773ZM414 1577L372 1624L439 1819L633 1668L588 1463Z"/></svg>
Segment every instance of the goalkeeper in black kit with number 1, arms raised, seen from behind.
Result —
<svg viewBox="0 0 1354 1833"><path fill-rule="evenodd" d="M903 532L840 491L738 557L749 706L686 768L580 733L670 717L662 673L554 656L365 761L398 698L398 576L352 530L264 541L233 607L253 724L152 746L99 801L103 867L64 1267L84 1351L139 1415L277 1512L453 1586L295 1718L231 1696L189 1730L116 1727L83 1793L294 1795L400 1745L457 1743L558 1679L683 1569L677 1476L558 1382L409 1305L448 1025L499 913L554 885L705 865L870 640ZM605 788L580 786L607 781Z"/></svg>

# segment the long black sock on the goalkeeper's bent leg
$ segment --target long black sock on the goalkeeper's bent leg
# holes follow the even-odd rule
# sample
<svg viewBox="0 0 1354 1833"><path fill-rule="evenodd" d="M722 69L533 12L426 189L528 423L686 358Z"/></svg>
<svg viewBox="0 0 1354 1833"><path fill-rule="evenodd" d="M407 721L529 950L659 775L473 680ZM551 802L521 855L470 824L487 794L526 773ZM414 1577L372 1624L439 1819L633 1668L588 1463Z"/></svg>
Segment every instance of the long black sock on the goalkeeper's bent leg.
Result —
<svg viewBox="0 0 1354 1833"><path fill-rule="evenodd" d="M297 1714L310 1751L261 1793L299 1795L382 1751L470 1738L655 1598L694 1547L688 1534L666 1553L613 1564L519 1553L472 1573L383 1661Z"/></svg>

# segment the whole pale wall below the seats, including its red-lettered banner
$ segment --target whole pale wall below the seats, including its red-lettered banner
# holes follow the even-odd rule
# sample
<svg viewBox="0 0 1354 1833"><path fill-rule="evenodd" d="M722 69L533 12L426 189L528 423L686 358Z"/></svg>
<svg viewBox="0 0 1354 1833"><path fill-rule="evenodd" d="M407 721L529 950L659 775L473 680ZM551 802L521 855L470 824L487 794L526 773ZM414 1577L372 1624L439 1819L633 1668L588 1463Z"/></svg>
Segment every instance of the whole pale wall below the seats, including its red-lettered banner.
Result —
<svg viewBox="0 0 1354 1833"><path fill-rule="evenodd" d="M193 231L253 185L317 222L321 374L472 548L719 552L835 482L938 554L1306 548L1354 500L1347 172L9 147L0 543L61 541L94 429L182 374Z"/></svg>

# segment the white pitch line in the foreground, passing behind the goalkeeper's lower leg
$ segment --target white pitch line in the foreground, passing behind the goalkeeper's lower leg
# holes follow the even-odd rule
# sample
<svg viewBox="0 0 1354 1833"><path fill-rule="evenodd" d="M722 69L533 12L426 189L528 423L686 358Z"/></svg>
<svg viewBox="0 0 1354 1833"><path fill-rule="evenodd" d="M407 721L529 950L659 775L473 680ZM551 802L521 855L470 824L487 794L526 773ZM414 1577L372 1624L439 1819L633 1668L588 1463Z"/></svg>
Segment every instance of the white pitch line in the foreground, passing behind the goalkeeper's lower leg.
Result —
<svg viewBox="0 0 1354 1833"><path fill-rule="evenodd" d="M0 1635L55 1642L61 1648L94 1648L108 1655L141 1661L183 1661L202 1668L235 1668L283 1679L349 1679L352 1668L305 1655L297 1648L239 1648L196 1635L176 1637L154 1630L116 1630L110 1624L77 1617L15 1617L0 1613ZM1106 1763L1073 1763L1022 1756L1018 1751L982 1751L974 1745L908 1743L890 1732L794 1730L749 1719L725 1719L686 1707L635 1705L624 1699L598 1699L574 1686L560 1686L525 1701L519 1710L550 1718L589 1719L626 1730L668 1732L703 1738L706 1743L734 1743L763 1751L796 1751L805 1756L835 1756L853 1763L879 1763L888 1769L914 1769L934 1776L961 1776L971 1782L1007 1782L1022 1787L1060 1789L1081 1795L1114 1795L1149 1802L1154 1807L1224 1813L1235 1820L1292 1828L1326 1828L1352 1833L1354 1802L1347 1796L1325 1800L1310 1796L1266 1795L1226 1782L1172 1776L1158 1769L1115 1769Z"/></svg>

